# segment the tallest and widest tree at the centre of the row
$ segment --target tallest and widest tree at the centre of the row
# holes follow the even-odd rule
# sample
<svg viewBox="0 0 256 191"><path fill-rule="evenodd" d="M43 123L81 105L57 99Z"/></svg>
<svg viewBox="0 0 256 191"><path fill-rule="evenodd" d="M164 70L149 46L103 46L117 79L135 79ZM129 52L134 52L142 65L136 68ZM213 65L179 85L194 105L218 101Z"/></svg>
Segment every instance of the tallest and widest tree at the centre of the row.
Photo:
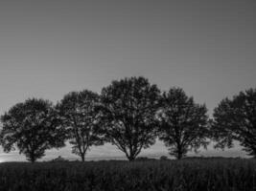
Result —
<svg viewBox="0 0 256 191"><path fill-rule="evenodd" d="M107 141L134 160L156 138L155 114L160 91L148 79L130 77L112 81L102 91L102 124Z"/></svg>

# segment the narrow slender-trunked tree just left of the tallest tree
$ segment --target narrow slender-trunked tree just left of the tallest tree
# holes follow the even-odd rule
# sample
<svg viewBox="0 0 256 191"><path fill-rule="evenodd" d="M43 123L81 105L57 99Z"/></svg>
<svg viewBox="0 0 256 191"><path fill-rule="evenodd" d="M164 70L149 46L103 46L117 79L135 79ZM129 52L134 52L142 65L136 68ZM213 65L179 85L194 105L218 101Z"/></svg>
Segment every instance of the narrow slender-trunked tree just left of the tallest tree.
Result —
<svg viewBox="0 0 256 191"><path fill-rule="evenodd" d="M100 96L91 91L72 92L58 103L61 123L73 145L72 153L84 161L85 154L92 145L102 145L104 140L97 123Z"/></svg>

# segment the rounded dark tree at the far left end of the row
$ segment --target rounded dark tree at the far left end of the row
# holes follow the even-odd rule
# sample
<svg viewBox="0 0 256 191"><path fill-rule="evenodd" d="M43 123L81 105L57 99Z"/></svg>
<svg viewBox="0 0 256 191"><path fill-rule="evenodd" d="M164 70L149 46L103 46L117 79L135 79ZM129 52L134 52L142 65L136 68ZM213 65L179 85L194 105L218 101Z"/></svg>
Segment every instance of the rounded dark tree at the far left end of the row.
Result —
<svg viewBox="0 0 256 191"><path fill-rule="evenodd" d="M5 152L15 149L32 162L45 150L64 146L62 132L52 103L44 99L27 99L17 103L1 117L0 143Z"/></svg>

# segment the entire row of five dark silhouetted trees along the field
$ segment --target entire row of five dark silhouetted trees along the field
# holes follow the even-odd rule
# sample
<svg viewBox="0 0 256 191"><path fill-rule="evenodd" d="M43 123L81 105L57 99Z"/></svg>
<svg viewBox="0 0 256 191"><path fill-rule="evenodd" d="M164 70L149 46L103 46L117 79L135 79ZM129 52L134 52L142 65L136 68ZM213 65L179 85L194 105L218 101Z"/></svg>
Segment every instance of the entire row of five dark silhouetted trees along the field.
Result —
<svg viewBox="0 0 256 191"><path fill-rule="evenodd" d="M239 140L256 157L256 89L224 98L209 119L206 106L195 103L182 89L161 93L147 78L130 77L112 81L101 95L88 90L69 93L56 105L27 99L1 121L4 151L18 149L32 162L47 149L63 147L66 140L82 161L91 146L105 142L134 160L157 137L176 159L207 147L210 139L221 148Z"/></svg>

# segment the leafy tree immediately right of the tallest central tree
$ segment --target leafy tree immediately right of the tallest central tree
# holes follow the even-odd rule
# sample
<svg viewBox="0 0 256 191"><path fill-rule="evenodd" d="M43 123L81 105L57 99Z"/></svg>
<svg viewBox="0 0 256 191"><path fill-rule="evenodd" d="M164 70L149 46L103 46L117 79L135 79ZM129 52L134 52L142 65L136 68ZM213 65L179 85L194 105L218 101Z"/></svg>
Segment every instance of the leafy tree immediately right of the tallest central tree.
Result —
<svg viewBox="0 0 256 191"><path fill-rule="evenodd" d="M169 147L170 155L182 159L188 151L197 152L200 146L207 146L206 113L205 105L196 104L193 97L186 96L180 88L163 94L157 115L160 121L159 139Z"/></svg>

